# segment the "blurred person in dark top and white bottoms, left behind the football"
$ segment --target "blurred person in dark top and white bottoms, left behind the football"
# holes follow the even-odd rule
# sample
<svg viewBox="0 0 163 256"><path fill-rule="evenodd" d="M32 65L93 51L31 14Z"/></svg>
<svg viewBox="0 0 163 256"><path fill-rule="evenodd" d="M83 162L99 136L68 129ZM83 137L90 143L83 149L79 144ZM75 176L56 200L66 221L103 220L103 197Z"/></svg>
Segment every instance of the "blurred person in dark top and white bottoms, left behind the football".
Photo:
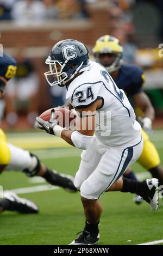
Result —
<svg viewBox="0 0 163 256"><path fill-rule="evenodd" d="M28 120L33 127L39 105L40 79L31 58L23 54L24 47L18 45L16 60L16 75L5 88L5 113L7 123L15 127L18 123L23 129L22 120ZM3 114L3 112L2 112ZM27 123L27 122L26 122ZM26 124L27 125L27 124Z"/></svg>

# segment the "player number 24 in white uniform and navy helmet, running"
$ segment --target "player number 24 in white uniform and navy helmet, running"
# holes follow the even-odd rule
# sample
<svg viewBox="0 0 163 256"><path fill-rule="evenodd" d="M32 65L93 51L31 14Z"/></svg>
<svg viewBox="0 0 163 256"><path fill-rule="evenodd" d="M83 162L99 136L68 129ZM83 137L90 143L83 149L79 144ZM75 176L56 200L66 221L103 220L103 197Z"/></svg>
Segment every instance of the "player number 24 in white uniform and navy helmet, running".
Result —
<svg viewBox="0 0 163 256"><path fill-rule="evenodd" d="M36 120L40 129L84 149L74 184L80 190L86 222L82 234L71 245L95 245L102 214L98 199L102 194L105 191L137 193L156 210L158 179L140 182L121 178L141 155L141 126L123 90L118 89L103 66L89 59L86 46L72 39L59 41L46 64L49 65L45 73L48 83L66 86L66 99L79 112L77 130L59 126L54 109L49 121L39 117Z"/></svg>

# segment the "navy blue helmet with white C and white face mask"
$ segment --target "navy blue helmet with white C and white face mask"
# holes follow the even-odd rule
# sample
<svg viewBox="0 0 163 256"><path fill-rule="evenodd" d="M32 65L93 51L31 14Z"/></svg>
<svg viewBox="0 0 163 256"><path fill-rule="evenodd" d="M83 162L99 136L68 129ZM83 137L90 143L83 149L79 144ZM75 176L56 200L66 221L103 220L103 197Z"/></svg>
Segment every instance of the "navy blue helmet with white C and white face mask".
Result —
<svg viewBox="0 0 163 256"><path fill-rule="evenodd" d="M89 51L82 42L62 40L54 45L45 63L49 65L45 77L50 86L65 86L78 72L85 71L90 65Z"/></svg>

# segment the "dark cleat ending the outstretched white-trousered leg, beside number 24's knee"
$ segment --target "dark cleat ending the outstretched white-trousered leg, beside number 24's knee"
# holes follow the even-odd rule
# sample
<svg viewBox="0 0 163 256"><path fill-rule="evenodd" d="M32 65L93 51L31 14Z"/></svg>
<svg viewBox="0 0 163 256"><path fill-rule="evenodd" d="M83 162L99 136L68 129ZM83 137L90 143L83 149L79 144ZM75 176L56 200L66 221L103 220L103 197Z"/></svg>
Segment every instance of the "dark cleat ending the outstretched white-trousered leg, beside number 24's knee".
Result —
<svg viewBox="0 0 163 256"><path fill-rule="evenodd" d="M58 173L56 170L52 170L55 174L55 185L65 188L68 192L77 192L77 188L74 186L74 178L71 175Z"/></svg>

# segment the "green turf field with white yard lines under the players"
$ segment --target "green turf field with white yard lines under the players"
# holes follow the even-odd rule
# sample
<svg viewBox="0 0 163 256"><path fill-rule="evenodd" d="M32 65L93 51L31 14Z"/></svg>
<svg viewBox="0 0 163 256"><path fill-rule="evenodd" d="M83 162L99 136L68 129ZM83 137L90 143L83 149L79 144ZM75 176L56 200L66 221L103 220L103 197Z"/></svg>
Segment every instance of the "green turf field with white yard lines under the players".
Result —
<svg viewBox="0 0 163 256"><path fill-rule="evenodd" d="M78 169L80 150L67 147L58 138L53 137L53 141L43 132L10 134L8 138L9 142L32 149L49 168L72 175ZM163 131L155 131L151 139L163 165ZM139 164L134 164L133 169L140 178L149 176ZM21 197L34 200L40 209L37 215L3 212L0 245L68 245L83 229L85 220L79 193L68 193L61 188L50 190L52 187L42 180L29 179L17 172L4 172L0 184L4 190L16 190ZM36 186L40 186L37 187L40 191L31 192ZM28 187L31 188L27 191ZM135 245L163 239L162 200L156 212L147 203L137 206L132 200L129 193L109 192L102 196L99 245Z"/></svg>

